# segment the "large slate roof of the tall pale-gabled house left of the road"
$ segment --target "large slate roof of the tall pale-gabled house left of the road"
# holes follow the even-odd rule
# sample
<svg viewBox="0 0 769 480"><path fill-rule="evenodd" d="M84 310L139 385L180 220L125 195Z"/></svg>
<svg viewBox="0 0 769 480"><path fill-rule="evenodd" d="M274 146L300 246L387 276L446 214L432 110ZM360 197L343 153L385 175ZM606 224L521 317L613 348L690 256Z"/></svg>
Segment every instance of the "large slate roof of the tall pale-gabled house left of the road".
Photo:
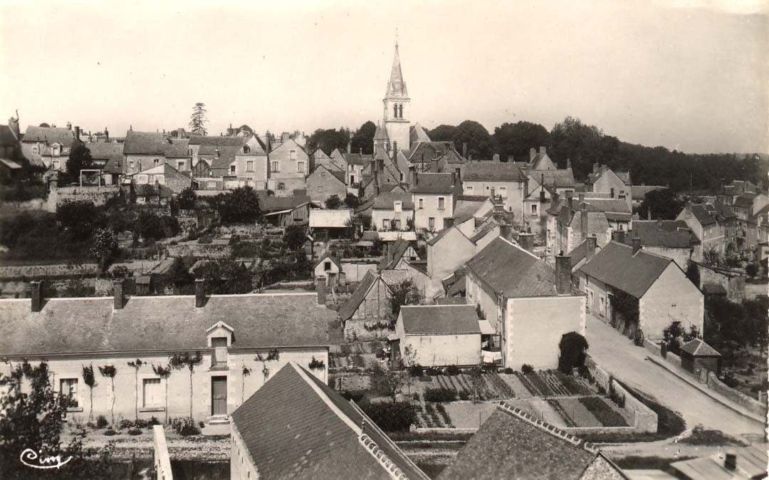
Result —
<svg viewBox="0 0 769 480"><path fill-rule="evenodd" d="M508 298L556 295L553 268L518 245L503 238L468 260L468 269Z"/></svg>

